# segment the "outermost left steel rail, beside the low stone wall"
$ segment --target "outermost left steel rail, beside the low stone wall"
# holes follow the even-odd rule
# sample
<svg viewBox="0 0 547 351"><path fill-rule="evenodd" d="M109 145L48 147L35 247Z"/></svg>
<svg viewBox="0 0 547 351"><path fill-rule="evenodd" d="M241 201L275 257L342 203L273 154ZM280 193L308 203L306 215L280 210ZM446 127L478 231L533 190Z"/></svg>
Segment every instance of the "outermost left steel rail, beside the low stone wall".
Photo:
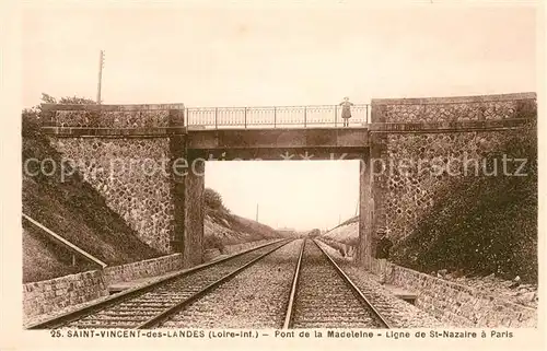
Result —
<svg viewBox="0 0 547 351"><path fill-rule="evenodd" d="M207 269L207 268L210 268L210 267L213 267L216 265L219 265L221 262L225 262L230 259L233 259L233 258L236 258L236 257L240 257L242 255L245 255L247 253L251 253L251 251L254 251L254 250L258 250L260 248L264 248L266 246L269 246L269 245L275 245L275 244L278 244L280 242L283 242L283 241L287 241L287 243L289 243L288 239L278 239L276 242L272 242L272 243L266 243L264 245L260 245L260 246L257 246L257 247L253 247L253 248L249 248L249 249L246 249L246 250L243 250L241 253L237 253L237 254L234 254L234 255L231 255L231 256L228 256L228 257L224 257L224 258L221 258L221 259L217 259L217 260L213 260L213 261L210 261L210 262L206 262L206 264L201 264L201 265L198 265L196 267L193 267L193 268L189 268L189 269L185 269L185 270L182 270L182 271L177 271L177 272L174 272L173 274L170 274L167 277L164 277L162 279L159 279L154 282L151 282L149 284L144 284L144 285L141 285L141 286L136 286L136 288L132 288L132 289L129 289L127 291L124 291L124 292L120 292L120 293L117 293L115 295L112 295L105 300L102 300L102 301L98 301L96 303L92 303L88 306L84 306L84 307L81 307L81 308L78 308L78 309L74 309L74 311L70 311L70 312L67 312L67 313L63 313L61 315L58 315L58 316L54 316L51 318L48 318L46 320L43 320L43 321L38 321L38 323L35 323L35 324L32 324L27 327L25 327L25 329L27 330L37 330L37 329L54 329L54 328L59 328L66 324L69 324L71 321L74 321L74 320L79 320L79 319L82 319L89 315L92 315L94 313L97 313L97 312L101 312L105 308L108 308L113 305L116 305L118 303L123 303L127 300L130 300L130 299L133 299L133 297L137 297L139 295L142 295L160 285L163 285L163 284L166 284L166 283L170 283L172 281L175 281L184 276L187 276L189 273L193 273L193 272L197 272L197 271L200 271L200 270L203 270L203 269Z"/></svg>

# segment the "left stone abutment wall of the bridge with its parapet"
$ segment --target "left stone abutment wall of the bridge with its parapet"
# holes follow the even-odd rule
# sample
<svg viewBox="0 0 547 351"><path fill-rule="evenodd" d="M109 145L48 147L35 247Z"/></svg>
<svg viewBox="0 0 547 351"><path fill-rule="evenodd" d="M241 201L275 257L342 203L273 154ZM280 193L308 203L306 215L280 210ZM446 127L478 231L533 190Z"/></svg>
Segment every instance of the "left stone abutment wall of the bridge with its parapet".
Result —
<svg viewBox="0 0 547 351"><path fill-rule="evenodd" d="M179 249L184 225L173 161L184 157L184 105L44 104L43 127L139 237L162 253ZM54 127L49 128L48 127ZM175 128L172 128L175 127ZM60 131L60 134L58 132ZM109 137L105 131L110 131ZM174 140L173 140L174 139ZM173 154L173 144L183 151ZM178 149L177 149L178 150Z"/></svg>

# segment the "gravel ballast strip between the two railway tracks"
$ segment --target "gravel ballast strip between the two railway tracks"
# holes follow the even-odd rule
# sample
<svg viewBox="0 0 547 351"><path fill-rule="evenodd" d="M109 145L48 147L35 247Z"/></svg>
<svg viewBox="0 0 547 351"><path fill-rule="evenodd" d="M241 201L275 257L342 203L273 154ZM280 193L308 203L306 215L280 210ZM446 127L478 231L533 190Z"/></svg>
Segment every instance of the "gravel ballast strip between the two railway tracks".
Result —
<svg viewBox="0 0 547 351"><path fill-rule="evenodd" d="M160 327L281 328L301 245L269 254Z"/></svg>

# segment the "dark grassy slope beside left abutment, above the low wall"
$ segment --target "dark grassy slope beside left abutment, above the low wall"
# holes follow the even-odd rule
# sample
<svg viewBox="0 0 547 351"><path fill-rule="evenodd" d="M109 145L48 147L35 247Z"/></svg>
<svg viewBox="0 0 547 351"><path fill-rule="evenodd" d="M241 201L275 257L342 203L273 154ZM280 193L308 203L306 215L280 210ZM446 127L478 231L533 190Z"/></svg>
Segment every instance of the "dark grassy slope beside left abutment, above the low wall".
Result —
<svg viewBox="0 0 547 351"><path fill-rule="evenodd" d="M47 102L48 96L44 98ZM70 103L70 98L63 103ZM88 102L75 98L73 102ZM38 132L39 108L23 112L23 212L74 245L108 265L121 265L161 256L139 239L137 233L105 203L104 198L83 177L74 173L60 177L61 155ZM26 160L51 159L57 172L46 175L38 164ZM47 167L50 162L45 163ZM47 169L46 172L49 173ZM36 281L60 277L88 269L79 264L75 268L61 266L67 255L53 246L32 224L23 231L23 281Z"/></svg>

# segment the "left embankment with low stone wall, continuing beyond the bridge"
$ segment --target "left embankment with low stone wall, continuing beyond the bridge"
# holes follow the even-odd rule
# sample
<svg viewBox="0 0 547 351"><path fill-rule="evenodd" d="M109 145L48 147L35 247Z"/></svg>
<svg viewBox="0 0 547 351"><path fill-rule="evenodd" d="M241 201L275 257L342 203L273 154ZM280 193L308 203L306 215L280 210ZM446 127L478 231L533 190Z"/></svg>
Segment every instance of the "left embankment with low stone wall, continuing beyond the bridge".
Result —
<svg viewBox="0 0 547 351"><path fill-rule="evenodd" d="M182 268L181 254L165 255L107 204L78 169L65 169L62 155L23 113L23 309L25 318L47 316L108 295L121 282L161 277ZM70 172L68 172L70 171ZM70 175L67 175L70 174ZM38 224L36 224L38 223ZM279 235L260 223L206 203L205 259L264 244ZM82 259L49 233L107 265Z"/></svg>

